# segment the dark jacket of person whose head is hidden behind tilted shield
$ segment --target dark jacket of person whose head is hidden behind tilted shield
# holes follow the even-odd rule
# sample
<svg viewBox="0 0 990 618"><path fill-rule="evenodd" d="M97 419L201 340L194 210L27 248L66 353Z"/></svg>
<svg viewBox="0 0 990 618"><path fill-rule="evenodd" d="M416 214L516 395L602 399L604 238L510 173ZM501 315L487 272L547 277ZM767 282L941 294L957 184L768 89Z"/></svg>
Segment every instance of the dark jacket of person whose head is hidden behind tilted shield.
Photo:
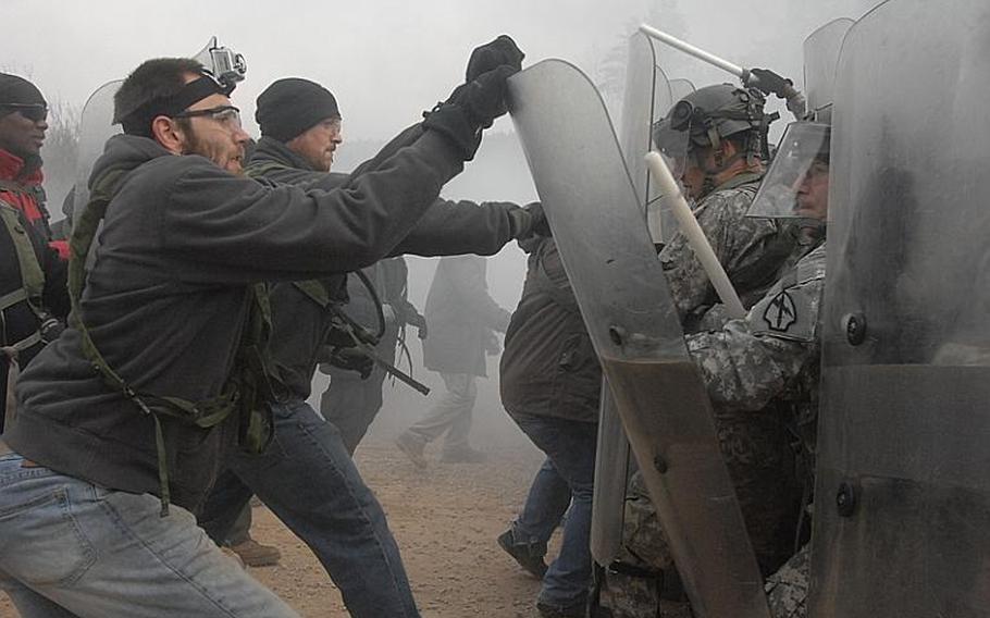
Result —
<svg viewBox="0 0 990 618"><path fill-rule="evenodd" d="M509 415L597 421L602 368L553 238L532 247L499 370Z"/></svg>

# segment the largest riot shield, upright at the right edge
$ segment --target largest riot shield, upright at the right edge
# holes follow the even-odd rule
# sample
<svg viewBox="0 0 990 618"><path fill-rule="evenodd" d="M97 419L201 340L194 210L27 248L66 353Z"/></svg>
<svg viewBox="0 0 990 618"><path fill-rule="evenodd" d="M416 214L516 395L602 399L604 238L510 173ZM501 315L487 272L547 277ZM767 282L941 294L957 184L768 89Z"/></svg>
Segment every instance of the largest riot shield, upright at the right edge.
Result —
<svg viewBox="0 0 990 618"><path fill-rule="evenodd" d="M990 3L890 0L832 116L814 617L990 615Z"/></svg>

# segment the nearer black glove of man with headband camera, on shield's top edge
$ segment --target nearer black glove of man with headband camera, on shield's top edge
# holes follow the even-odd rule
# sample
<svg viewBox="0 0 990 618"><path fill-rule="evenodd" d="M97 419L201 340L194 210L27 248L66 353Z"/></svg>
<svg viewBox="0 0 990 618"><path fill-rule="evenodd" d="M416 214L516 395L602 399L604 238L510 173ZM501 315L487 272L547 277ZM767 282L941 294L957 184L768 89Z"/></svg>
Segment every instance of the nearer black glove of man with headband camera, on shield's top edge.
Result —
<svg viewBox="0 0 990 618"><path fill-rule="evenodd" d="M474 158L481 146L481 132L505 114L506 79L519 70L503 64L458 86L450 98L423 114L423 128L450 140L465 161Z"/></svg>

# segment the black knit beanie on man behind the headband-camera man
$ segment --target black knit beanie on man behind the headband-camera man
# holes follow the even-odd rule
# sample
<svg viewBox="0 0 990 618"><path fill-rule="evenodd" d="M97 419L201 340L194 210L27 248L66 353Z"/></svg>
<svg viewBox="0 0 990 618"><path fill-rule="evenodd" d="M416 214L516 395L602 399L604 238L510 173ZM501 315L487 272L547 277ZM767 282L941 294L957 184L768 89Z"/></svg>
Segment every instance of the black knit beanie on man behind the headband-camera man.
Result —
<svg viewBox="0 0 990 618"><path fill-rule="evenodd" d="M329 118L341 118L337 100L315 82L279 79L258 97L255 120L263 137L286 143Z"/></svg>

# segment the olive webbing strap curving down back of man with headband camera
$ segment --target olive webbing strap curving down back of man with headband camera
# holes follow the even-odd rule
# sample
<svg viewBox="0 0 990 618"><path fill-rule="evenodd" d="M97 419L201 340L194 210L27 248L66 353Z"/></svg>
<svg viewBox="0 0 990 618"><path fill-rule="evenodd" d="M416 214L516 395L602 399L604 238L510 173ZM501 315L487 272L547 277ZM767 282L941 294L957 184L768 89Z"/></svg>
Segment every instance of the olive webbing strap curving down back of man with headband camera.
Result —
<svg viewBox="0 0 990 618"><path fill-rule="evenodd" d="M97 348L83 320L82 297L86 285L86 258L92 246L100 221L107 213L107 207L117 188L123 184L127 170L111 169L94 182L90 198L82 211L76 225L73 226L72 237L69 242L69 297L72 304L72 313L69 323L79 332L83 354L110 386L121 393L154 423L154 445L158 457L158 479L161 492L161 516L169 515L171 492L169 490L169 461L165 455L165 442L162 431L162 416L195 424L196 427L212 428L226 419L237 405L239 397L237 384L225 385L223 393L216 397L202 401L191 403L180 397L156 396L136 392L127 382L107 362ZM250 295L249 295L250 296ZM248 301L251 299L249 298Z"/></svg>

